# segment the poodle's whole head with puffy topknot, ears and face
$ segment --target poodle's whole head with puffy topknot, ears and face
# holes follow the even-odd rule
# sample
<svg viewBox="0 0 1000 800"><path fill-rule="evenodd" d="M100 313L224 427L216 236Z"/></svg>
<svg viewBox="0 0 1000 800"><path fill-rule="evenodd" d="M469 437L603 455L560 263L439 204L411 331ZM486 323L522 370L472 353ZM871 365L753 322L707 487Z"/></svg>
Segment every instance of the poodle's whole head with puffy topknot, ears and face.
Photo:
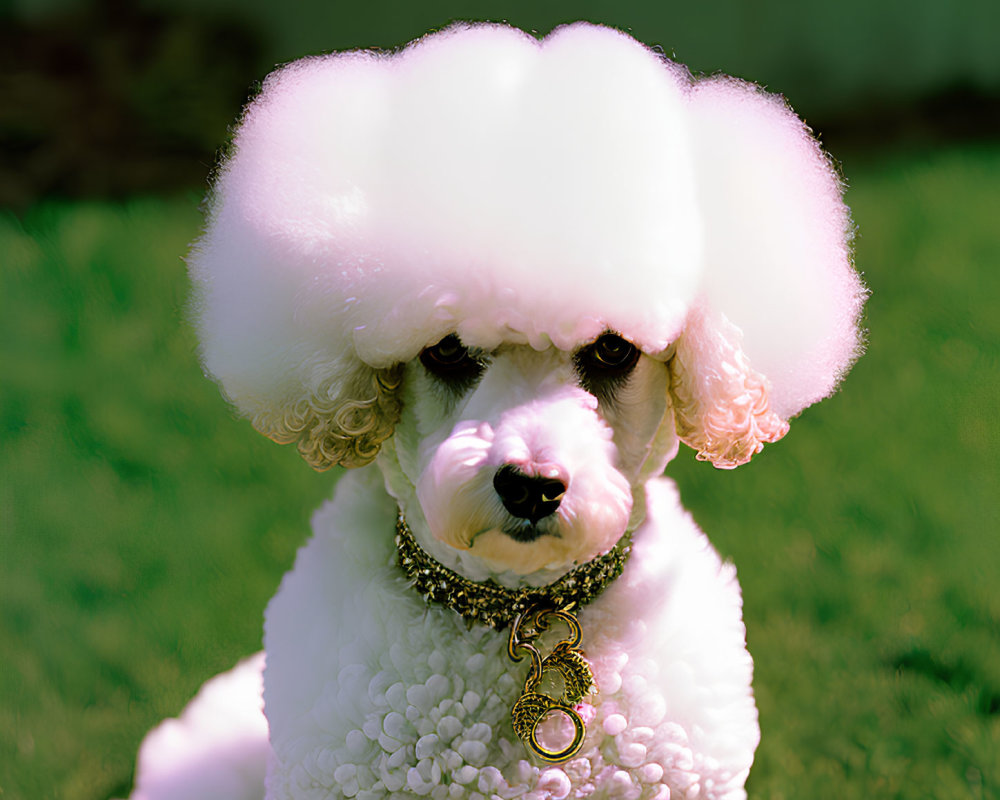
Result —
<svg viewBox="0 0 1000 800"><path fill-rule="evenodd" d="M380 463L466 574L613 546L678 441L742 464L859 352L836 173L780 98L617 31L456 26L265 82L190 267L207 370Z"/></svg>

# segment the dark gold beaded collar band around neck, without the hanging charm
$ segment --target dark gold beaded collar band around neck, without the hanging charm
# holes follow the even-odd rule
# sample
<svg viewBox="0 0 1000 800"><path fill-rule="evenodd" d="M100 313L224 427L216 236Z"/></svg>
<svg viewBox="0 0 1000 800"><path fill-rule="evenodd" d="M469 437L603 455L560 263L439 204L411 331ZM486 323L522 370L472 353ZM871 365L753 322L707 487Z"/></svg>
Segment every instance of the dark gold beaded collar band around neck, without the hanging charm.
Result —
<svg viewBox="0 0 1000 800"><path fill-rule="evenodd" d="M402 513L396 520L397 562L427 600L447 606L470 624L502 630L533 606L572 609L597 597L625 568L632 537L625 534L610 551L567 572L547 586L508 589L492 579L464 578L421 549Z"/></svg>

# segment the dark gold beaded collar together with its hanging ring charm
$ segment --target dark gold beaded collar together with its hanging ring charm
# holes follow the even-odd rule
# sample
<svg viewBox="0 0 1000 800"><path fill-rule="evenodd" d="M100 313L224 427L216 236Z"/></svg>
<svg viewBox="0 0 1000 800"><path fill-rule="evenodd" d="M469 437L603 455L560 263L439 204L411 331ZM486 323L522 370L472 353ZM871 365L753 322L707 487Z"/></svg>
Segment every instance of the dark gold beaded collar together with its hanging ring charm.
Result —
<svg viewBox="0 0 1000 800"><path fill-rule="evenodd" d="M508 657L512 661L531 657L524 688L511 709L514 732L543 762L561 764L575 756L587 732L579 704L597 691L597 684L579 647L583 639L580 623L571 612L593 600L622 574L632 537L625 534L608 553L548 586L524 589L507 589L493 580L471 581L439 564L417 544L402 512L396 519L396 548L399 566L429 602L447 606L469 625L481 622L497 630L511 626ZM562 622L569 636L543 657L536 641L553 621ZM559 677L545 683L546 675L553 673ZM572 739L558 749L547 747L538 738L539 726L551 712L565 715L573 725Z"/></svg>

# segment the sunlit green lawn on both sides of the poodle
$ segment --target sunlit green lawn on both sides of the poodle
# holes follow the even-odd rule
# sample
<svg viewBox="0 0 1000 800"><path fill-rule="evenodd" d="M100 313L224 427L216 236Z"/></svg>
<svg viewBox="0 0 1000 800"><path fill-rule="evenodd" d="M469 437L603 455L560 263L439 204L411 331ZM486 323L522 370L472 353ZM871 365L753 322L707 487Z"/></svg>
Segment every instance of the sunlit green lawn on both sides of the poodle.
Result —
<svg viewBox="0 0 1000 800"><path fill-rule="evenodd" d="M845 165L873 290L844 389L671 471L746 599L751 798L1000 796L1000 149ZM0 797L127 793L143 733L259 646L335 476L201 374L191 199L0 219Z"/></svg>

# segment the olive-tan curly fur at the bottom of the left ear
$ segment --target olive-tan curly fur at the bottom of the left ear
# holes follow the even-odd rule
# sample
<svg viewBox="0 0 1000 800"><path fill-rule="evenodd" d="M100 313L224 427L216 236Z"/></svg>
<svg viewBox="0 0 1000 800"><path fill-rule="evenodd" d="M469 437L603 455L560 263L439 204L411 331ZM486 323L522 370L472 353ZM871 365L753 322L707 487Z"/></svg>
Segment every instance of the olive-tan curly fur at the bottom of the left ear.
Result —
<svg viewBox="0 0 1000 800"><path fill-rule="evenodd" d="M279 444L295 443L317 470L363 467L378 455L399 419L403 367L360 366L349 380L331 379L279 415L257 414L254 428Z"/></svg>

